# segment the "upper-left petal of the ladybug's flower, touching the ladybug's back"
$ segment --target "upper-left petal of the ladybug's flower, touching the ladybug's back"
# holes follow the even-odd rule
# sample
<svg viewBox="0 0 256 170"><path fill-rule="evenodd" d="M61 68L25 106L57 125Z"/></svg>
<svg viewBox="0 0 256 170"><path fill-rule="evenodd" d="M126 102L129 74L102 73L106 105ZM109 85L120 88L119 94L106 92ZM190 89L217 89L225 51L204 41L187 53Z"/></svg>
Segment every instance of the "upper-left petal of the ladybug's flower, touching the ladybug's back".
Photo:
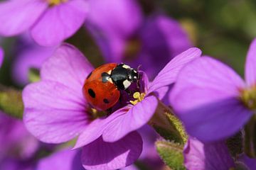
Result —
<svg viewBox="0 0 256 170"><path fill-rule="evenodd" d="M92 69L90 62L78 49L65 43L43 64L41 77L68 86L82 96L82 85Z"/></svg>

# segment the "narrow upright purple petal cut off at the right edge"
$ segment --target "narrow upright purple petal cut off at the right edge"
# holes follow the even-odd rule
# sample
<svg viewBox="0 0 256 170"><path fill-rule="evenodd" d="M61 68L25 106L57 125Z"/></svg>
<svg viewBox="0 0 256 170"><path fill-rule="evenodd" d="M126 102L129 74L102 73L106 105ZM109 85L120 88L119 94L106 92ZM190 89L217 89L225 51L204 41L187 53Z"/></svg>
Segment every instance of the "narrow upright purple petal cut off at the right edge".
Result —
<svg viewBox="0 0 256 170"><path fill-rule="evenodd" d="M247 53L245 80L249 86L256 84L256 39L252 41Z"/></svg>

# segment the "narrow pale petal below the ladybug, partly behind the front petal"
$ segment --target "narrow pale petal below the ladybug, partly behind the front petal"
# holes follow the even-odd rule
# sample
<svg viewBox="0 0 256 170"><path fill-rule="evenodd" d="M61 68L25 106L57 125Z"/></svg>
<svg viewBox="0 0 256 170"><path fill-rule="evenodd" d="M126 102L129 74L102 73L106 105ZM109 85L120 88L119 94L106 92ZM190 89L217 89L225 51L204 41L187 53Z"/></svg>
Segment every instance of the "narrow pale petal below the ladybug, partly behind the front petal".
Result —
<svg viewBox="0 0 256 170"><path fill-rule="evenodd" d="M97 140L97 138L102 135L102 132L107 128L112 120L125 113L127 113L127 108L121 108L107 118L97 118L93 120L92 123L87 125L85 130L79 135L73 149L88 145L90 142Z"/></svg>

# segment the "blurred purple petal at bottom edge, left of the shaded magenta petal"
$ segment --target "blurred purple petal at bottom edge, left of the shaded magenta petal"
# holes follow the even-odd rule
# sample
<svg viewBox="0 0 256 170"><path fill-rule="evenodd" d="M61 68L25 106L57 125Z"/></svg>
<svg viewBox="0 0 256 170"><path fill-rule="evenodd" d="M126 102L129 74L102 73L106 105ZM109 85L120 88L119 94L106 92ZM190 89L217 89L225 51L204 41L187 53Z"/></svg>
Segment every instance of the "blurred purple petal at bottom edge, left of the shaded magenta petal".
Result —
<svg viewBox="0 0 256 170"><path fill-rule="evenodd" d="M81 152L63 149L53 154L50 154L49 157L44 157L39 159L36 166L36 170L83 170L82 164L80 161Z"/></svg>

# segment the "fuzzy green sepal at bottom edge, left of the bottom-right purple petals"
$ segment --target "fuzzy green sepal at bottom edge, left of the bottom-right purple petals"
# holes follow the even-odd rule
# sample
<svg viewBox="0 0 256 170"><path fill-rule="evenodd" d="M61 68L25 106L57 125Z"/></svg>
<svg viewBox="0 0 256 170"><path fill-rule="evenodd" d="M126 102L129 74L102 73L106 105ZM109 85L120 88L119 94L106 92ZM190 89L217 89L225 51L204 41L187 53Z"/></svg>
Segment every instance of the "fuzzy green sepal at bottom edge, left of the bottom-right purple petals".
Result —
<svg viewBox="0 0 256 170"><path fill-rule="evenodd" d="M183 145L165 140L156 141L156 149L164 163L174 170L185 169L183 166Z"/></svg>

